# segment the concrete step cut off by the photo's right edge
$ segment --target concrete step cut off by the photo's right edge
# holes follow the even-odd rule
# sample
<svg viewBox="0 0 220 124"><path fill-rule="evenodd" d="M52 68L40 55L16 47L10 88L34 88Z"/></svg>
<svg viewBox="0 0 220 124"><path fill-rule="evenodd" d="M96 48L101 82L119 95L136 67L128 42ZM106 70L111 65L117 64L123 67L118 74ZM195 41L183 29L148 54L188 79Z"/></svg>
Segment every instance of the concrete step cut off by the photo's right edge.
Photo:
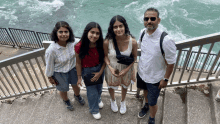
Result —
<svg viewBox="0 0 220 124"><path fill-rule="evenodd" d="M218 92L218 90L220 90L220 82L216 81L213 82L211 85L211 98L212 98L212 102L213 102L213 120L215 120L216 124L220 124L220 102L215 101L215 96Z"/></svg>

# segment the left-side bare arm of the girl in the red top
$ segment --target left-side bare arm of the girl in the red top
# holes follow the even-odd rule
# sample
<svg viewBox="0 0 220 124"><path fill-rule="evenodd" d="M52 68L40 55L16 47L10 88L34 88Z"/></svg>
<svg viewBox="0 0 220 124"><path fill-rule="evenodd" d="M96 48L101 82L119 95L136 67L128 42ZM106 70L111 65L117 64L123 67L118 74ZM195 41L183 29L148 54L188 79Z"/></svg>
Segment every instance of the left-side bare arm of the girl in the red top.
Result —
<svg viewBox="0 0 220 124"><path fill-rule="evenodd" d="M81 59L79 58L79 54L76 54L76 71L77 71L77 86L82 86L82 65L81 65Z"/></svg>

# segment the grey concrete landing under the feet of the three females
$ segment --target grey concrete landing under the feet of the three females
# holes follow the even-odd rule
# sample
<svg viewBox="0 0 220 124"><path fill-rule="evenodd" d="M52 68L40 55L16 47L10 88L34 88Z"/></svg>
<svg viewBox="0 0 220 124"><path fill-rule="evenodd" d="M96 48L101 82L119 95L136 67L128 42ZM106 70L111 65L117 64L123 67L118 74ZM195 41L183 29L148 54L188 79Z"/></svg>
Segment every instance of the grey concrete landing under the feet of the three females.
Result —
<svg viewBox="0 0 220 124"><path fill-rule="evenodd" d="M74 111L66 109L57 91L53 90L44 95L31 94L26 98L15 99L12 104L2 103L0 106L1 124L137 124L140 122L137 114L141 108L141 101L135 95L127 94L127 112L121 115L114 113L110 108L110 96L108 92L102 93L104 107L100 109L102 118L96 120L89 112L86 91L81 95L86 101L81 106L75 101L73 91L68 92L69 99L73 103ZM116 101L120 108L121 94L116 93ZM146 117L148 118L148 117ZM143 123L146 123L142 121ZM159 124L159 123L158 123Z"/></svg>

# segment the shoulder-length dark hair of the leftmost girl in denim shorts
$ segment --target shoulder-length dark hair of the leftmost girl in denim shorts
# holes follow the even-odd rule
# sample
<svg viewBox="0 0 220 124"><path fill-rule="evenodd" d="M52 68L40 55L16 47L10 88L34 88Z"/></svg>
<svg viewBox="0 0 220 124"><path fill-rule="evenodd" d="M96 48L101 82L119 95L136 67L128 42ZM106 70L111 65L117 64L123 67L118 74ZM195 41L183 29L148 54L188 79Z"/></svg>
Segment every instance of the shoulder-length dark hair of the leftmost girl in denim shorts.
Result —
<svg viewBox="0 0 220 124"><path fill-rule="evenodd" d="M54 41L55 43L58 42L58 37L57 37L57 31L61 28L61 27L64 27L64 28L67 28L69 30L69 39L66 41L67 43L68 42L74 42L75 41L75 38L74 38L74 34L73 34L73 30L72 28L69 26L69 24L65 21L59 21L56 23L55 27L53 28L53 31L51 33L51 40Z"/></svg>

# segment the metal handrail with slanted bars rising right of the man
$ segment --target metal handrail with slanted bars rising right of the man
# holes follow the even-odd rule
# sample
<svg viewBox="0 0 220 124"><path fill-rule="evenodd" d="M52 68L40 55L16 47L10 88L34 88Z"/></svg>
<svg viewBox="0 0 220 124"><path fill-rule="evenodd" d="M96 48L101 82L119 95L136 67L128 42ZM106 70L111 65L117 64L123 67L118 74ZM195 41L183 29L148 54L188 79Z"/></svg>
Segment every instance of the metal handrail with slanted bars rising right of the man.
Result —
<svg viewBox="0 0 220 124"><path fill-rule="evenodd" d="M210 34L210 35L206 35L206 36L201 36L201 37L197 37L197 38L193 38L193 39L188 39L188 40L177 42L176 43L176 47L177 47L177 50L178 50L178 56L177 56L178 59L177 59L174 71L172 73L171 81L169 82L169 86L184 85L184 84L194 84L194 83L203 83L203 82L210 82L210 81L220 80L220 77L219 77L220 69L218 69L219 68L219 64L216 67L216 64L219 63L219 61L220 61L219 60L220 50L217 52L218 54L216 54L216 57L215 57L214 61L213 62L209 62L210 55L213 55L211 53L212 48L213 48L214 44L219 42L219 41L220 41L220 33L214 33L214 34ZM206 45L206 44L211 44L211 46L208 49L208 52L206 53L206 56L204 58L199 59L199 56L201 54L203 54L201 52L201 50L204 47L204 45ZM192 62L193 65L188 70L188 72L190 71L189 76L186 77L188 79L187 80L182 80L183 74L185 73L185 70L186 70L186 67L187 67L187 63L189 62L189 60L191 58L190 55L193 52L195 52L195 50L192 51L192 48L195 47L195 46L199 46L200 48L199 48L198 51L196 51L197 55L196 55L195 61ZM179 65L179 63L181 63L181 60L179 58L180 58L180 56L182 56L181 53L186 48L189 49L189 51L185 54L185 57L183 58L184 61L182 61L182 62L184 64L181 67L181 75L180 75L179 81L173 82L173 79L174 79L175 74L176 74L175 72L176 72L177 66ZM198 70L198 75L197 75L196 79L191 79L191 76L192 76L193 72L196 69L196 64L198 64L199 61L201 63L201 66L199 67L200 70ZM208 70L208 69L205 68L205 66L210 66L211 68ZM211 77L211 74L212 74L214 68L216 68L215 69L216 76L215 77ZM208 71L208 75L206 76L206 78L201 78L201 74L202 74L202 72L204 70Z"/></svg>

